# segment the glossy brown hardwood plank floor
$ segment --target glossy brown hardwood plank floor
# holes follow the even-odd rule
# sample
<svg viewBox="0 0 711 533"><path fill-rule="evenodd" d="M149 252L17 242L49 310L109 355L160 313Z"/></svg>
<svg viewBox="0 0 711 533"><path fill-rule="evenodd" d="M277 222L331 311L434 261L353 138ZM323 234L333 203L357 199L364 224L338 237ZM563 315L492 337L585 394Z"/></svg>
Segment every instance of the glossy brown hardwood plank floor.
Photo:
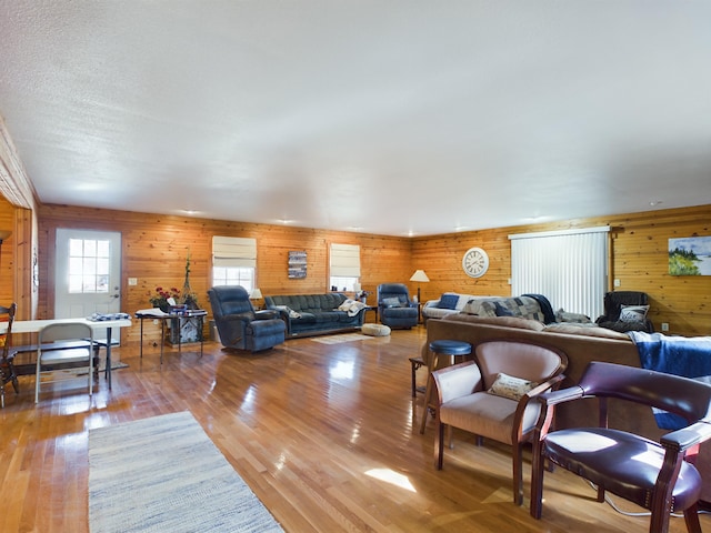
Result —
<svg viewBox="0 0 711 533"><path fill-rule="evenodd" d="M560 469L545 477L543 520L511 503L511 461L503 445L455 432L444 470L433 467L433 423L419 433L422 396L410 394L408 358L425 330L393 331L340 344L290 340L262 354L206 343L198 358L167 349L117 350L129 368L83 389L44 392L33 378L0 411L2 532L87 532L88 430L189 410L287 532L647 531ZM114 352L114 353L117 353ZM424 369L420 370L424 381ZM524 463L530 469L530 463ZM524 472L524 490L529 490ZM624 501L617 503L633 512ZM711 531L711 519L701 517ZM683 519L671 531L683 532Z"/></svg>

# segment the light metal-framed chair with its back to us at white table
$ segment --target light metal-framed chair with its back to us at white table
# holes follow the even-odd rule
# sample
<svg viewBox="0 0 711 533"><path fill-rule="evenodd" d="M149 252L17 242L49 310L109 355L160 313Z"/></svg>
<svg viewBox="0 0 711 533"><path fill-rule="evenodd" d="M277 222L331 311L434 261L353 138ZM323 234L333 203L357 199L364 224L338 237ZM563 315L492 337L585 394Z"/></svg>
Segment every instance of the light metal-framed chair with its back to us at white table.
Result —
<svg viewBox="0 0 711 533"><path fill-rule="evenodd" d="M97 359L93 330L82 322L57 322L42 328L38 334L38 341L34 403L39 402L42 384L70 378L80 379L82 376L77 373L78 369L84 369L88 372L87 381L91 396L96 378L94 359ZM58 371L59 376L54 376L53 374Z"/></svg>

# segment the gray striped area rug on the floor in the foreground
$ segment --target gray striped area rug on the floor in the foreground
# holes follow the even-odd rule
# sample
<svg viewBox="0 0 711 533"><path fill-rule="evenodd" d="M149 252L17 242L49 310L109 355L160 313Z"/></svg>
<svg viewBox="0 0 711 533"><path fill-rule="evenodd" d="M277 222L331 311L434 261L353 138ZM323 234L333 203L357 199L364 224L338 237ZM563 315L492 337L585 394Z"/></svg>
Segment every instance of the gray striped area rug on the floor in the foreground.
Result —
<svg viewBox="0 0 711 533"><path fill-rule="evenodd" d="M283 531L187 411L89 431L89 529Z"/></svg>

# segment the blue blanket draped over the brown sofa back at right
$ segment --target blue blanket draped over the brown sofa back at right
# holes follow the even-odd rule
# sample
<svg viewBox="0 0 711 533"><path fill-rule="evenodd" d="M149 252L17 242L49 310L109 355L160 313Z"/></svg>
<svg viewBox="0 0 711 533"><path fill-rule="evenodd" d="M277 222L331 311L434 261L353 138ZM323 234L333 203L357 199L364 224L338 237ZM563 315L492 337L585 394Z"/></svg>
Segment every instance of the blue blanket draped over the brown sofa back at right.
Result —
<svg viewBox="0 0 711 533"><path fill-rule="evenodd" d="M643 369L711 380L711 336L667 336L643 331L628 332L640 354ZM709 380L700 380L707 381ZM687 424L680 416L662 411L654 413L657 425L677 430Z"/></svg>

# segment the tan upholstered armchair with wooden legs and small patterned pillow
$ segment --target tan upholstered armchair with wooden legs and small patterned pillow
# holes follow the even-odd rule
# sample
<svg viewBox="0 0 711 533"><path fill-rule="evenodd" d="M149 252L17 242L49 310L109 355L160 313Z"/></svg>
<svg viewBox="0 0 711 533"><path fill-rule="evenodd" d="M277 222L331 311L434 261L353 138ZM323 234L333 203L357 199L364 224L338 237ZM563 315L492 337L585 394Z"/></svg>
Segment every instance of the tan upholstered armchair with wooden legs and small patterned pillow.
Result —
<svg viewBox="0 0 711 533"><path fill-rule="evenodd" d="M437 384L435 466L444 461L444 428L459 428L511 446L513 502L523 502L523 446L531 442L540 404L531 400L557 389L568 368L558 349L523 341L488 341L474 361L432 372ZM450 442L450 447L452 446Z"/></svg>

